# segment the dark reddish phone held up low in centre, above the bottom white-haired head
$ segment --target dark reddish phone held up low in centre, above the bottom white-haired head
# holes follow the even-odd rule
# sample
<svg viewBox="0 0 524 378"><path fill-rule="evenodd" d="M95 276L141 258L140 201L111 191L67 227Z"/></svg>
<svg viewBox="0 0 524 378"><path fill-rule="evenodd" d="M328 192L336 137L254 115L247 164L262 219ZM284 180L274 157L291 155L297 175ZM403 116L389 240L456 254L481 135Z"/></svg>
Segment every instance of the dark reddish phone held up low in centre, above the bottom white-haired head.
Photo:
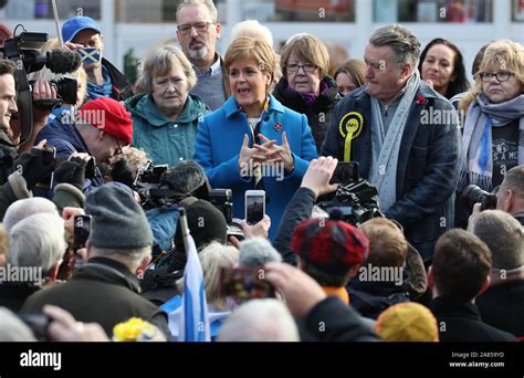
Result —
<svg viewBox="0 0 524 378"><path fill-rule="evenodd" d="M223 296L239 303L254 298L274 298L274 286L264 280L263 266L222 267L220 271L220 290Z"/></svg>

